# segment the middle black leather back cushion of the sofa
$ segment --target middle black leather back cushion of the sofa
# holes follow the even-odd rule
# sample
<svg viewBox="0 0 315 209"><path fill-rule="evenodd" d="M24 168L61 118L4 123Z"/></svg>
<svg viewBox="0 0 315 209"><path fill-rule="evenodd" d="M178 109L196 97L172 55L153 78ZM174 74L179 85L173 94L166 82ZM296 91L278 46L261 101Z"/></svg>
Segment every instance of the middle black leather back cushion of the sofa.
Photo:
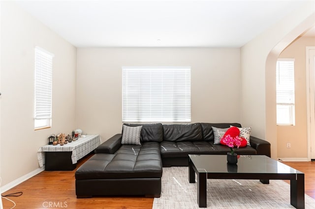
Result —
<svg viewBox="0 0 315 209"><path fill-rule="evenodd" d="M163 141L202 141L200 123L163 124Z"/></svg>

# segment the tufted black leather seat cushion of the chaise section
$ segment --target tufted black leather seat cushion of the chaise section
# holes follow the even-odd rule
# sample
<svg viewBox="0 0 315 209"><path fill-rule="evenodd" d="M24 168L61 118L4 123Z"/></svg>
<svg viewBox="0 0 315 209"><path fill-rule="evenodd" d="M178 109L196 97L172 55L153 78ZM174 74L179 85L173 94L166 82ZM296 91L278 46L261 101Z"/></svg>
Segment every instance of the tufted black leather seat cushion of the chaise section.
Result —
<svg viewBox="0 0 315 209"><path fill-rule="evenodd" d="M75 179L161 178L157 142L122 145L115 154L95 154L75 172Z"/></svg>

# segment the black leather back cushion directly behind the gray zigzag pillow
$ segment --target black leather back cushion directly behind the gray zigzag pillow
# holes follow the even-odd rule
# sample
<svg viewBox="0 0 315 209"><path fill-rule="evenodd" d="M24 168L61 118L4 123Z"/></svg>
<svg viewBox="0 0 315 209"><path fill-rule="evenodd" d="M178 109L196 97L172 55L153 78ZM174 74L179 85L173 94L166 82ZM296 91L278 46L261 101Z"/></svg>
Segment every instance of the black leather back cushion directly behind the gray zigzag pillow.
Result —
<svg viewBox="0 0 315 209"><path fill-rule="evenodd" d="M141 142L161 142L163 140L163 126L160 123L155 124L124 124L126 126L142 126L140 141Z"/></svg>

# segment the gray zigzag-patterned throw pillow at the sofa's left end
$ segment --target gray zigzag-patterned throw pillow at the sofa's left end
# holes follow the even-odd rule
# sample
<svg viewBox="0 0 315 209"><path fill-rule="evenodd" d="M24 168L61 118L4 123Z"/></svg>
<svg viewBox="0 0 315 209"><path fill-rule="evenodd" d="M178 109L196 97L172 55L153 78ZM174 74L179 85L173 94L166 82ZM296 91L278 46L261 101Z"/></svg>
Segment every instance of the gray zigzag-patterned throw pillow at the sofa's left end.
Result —
<svg viewBox="0 0 315 209"><path fill-rule="evenodd" d="M122 144L141 145L140 144L141 129L142 126L131 127L123 125Z"/></svg>

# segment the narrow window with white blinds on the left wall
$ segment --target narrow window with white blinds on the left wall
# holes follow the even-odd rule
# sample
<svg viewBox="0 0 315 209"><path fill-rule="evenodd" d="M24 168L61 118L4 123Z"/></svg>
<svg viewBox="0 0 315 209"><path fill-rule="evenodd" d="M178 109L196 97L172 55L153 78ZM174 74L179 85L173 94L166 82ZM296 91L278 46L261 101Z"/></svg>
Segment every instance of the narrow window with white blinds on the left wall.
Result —
<svg viewBox="0 0 315 209"><path fill-rule="evenodd" d="M52 53L35 47L35 129L51 126L53 57Z"/></svg>

